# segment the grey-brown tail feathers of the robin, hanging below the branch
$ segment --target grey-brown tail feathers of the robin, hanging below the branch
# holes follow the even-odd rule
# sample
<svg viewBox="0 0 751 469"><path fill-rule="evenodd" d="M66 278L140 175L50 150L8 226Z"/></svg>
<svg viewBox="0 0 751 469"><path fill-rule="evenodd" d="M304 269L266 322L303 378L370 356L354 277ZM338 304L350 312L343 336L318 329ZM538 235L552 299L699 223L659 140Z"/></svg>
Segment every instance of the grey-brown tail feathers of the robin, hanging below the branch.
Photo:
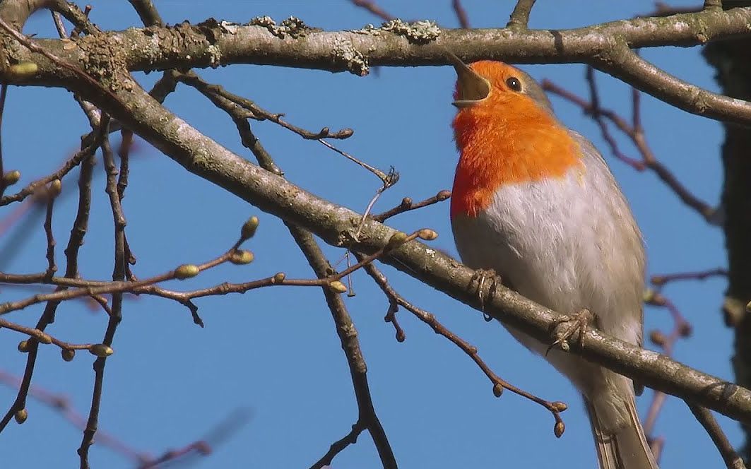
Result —
<svg viewBox="0 0 751 469"><path fill-rule="evenodd" d="M597 446L599 467L600 469L659 469L650 446L647 444L644 429L641 428L634 398L629 398L626 402L629 411L628 425L615 432L606 432L603 431L604 425L597 416L595 406L584 398Z"/></svg>

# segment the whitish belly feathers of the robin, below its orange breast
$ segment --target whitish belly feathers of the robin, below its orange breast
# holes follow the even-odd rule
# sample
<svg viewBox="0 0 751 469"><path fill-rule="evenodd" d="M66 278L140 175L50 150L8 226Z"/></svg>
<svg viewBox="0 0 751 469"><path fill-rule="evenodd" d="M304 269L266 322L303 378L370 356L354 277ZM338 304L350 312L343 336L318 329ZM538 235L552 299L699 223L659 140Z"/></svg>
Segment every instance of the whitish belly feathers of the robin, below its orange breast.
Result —
<svg viewBox="0 0 751 469"><path fill-rule="evenodd" d="M455 216L457 250L467 266L495 270L521 295L561 314L587 308L603 332L641 344L641 235L605 162L585 158L584 173L506 185L476 218ZM509 330L535 352L547 350ZM559 351L547 359L590 394L599 367Z"/></svg>

